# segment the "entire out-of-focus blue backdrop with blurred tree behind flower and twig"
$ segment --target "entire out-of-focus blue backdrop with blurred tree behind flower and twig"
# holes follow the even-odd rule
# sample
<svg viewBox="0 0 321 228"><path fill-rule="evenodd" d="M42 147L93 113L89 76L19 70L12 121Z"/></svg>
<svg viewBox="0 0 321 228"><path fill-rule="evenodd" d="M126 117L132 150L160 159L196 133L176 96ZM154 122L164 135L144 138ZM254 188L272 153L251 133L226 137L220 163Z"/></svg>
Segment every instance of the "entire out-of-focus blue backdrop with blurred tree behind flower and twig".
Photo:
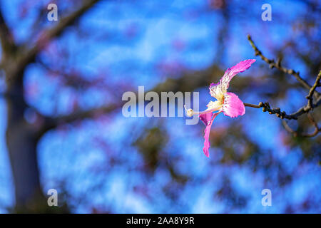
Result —
<svg viewBox="0 0 321 228"><path fill-rule="evenodd" d="M47 6L58 6L49 21ZM272 21L263 21L263 4ZM307 99L293 76L320 71L320 1L1 1L0 212L320 213L320 134L294 137L262 109L185 118L125 118L126 91L200 92L248 58L230 84L245 103L287 113ZM213 100L213 99L212 99ZM320 120L320 108L314 110ZM313 131L307 116L289 120ZM58 191L59 207L47 192ZM272 207L261 191L270 189Z"/></svg>

